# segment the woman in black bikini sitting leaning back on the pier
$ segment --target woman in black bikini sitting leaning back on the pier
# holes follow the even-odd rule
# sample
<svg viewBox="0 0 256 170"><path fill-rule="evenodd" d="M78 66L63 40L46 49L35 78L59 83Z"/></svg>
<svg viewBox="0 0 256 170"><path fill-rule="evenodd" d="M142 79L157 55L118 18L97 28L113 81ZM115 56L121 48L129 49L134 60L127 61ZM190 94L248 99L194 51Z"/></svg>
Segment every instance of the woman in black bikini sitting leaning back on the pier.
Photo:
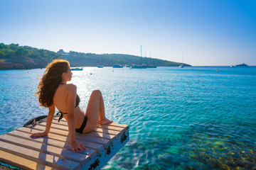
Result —
<svg viewBox="0 0 256 170"><path fill-rule="evenodd" d="M75 141L75 132L91 132L99 121L101 125L113 121L105 117L104 102L99 90L92 91L86 112L82 111L79 107L77 87L67 84L72 74L70 64L66 60L53 60L47 65L36 92L40 105L49 109L46 131L34 133L31 137L48 135L56 107L60 113L59 121L64 116L68 122L70 148L73 152L79 152L79 149L84 152L85 146Z"/></svg>

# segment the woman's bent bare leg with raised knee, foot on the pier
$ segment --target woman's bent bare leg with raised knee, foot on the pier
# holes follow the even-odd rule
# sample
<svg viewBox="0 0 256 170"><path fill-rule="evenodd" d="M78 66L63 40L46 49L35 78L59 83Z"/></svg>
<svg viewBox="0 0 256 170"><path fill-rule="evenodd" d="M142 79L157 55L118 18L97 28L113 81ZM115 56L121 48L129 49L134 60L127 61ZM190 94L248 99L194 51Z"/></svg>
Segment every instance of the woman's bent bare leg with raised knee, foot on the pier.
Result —
<svg viewBox="0 0 256 170"><path fill-rule="evenodd" d="M87 124L83 132L94 130L99 120L101 125L113 122L105 117L104 101L100 90L92 91L85 115Z"/></svg>

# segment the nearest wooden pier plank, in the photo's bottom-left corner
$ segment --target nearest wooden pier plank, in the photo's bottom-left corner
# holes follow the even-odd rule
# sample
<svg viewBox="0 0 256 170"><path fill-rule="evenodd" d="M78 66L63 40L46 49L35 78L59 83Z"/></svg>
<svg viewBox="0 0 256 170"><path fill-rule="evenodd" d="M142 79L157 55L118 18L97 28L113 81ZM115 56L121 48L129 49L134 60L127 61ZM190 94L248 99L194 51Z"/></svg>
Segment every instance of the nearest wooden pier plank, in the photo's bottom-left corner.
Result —
<svg viewBox="0 0 256 170"><path fill-rule="evenodd" d="M18 157L15 154L11 154L9 152L4 152L0 150L0 162L4 164L9 164L11 166L17 167L18 169L44 169L44 170L55 170L50 166L46 166L45 164L40 164L38 162L34 162L30 159L26 159L23 157Z"/></svg>

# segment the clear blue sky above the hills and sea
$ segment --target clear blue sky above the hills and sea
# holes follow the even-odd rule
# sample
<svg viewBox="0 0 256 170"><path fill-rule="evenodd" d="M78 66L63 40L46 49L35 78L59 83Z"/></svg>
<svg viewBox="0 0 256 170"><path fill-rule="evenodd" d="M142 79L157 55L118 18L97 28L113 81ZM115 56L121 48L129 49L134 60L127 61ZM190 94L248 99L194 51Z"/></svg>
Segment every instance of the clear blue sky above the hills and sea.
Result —
<svg viewBox="0 0 256 170"><path fill-rule="evenodd" d="M256 1L1 0L0 42L57 52L256 65Z"/></svg>

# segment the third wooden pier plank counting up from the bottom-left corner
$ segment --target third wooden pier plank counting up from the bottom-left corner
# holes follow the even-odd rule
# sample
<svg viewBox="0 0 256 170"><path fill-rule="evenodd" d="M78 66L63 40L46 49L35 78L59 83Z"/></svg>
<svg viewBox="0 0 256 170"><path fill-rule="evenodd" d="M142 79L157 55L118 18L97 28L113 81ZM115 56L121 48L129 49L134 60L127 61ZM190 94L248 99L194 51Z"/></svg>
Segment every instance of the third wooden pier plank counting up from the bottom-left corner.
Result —
<svg viewBox="0 0 256 170"><path fill-rule="evenodd" d="M37 150L46 154L52 154L63 159L79 162L82 166L90 161L90 157L86 154L74 153L66 149L60 149L58 147L53 147L51 145L46 145L31 140L24 140L11 135L0 135L0 140L17 146L26 147L28 149Z"/></svg>

